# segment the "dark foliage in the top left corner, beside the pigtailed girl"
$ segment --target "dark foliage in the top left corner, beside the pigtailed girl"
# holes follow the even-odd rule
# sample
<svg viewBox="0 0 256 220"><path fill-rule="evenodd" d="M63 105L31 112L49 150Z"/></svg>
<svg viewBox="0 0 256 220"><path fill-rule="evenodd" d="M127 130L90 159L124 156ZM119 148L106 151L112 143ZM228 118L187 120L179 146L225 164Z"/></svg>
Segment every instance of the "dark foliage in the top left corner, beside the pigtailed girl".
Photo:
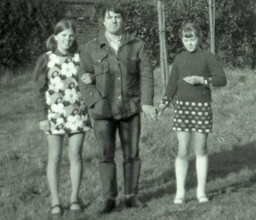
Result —
<svg viewBox="0 0 256 220"><path fill-rule="evenodd" d="M60 18L59 1L5 0L0 8L0 65L17 66L42 53Z"/></svg>

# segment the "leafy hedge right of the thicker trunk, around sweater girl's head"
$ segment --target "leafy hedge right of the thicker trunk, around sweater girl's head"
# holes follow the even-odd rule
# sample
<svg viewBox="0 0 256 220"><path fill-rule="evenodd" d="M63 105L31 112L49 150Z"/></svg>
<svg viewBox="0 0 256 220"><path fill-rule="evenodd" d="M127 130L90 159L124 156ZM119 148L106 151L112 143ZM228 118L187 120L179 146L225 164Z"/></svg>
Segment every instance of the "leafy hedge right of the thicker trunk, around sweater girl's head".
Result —
<svg viewBox="0 0 256 220"><path fill-rule="evenodd" d="M243 7L242 7L243 6ZM215 51L226 66L245 67L253 63L253 47L256 30L256 14L253 1L216 0L215 1ZM255 8L255 6L254 6ZM182 1L173 5L166 4L166 36L169 61L182 50L177 37L182 23L197 22L203 30L205 47L210 49L208 3L205 0Z"/></svg>

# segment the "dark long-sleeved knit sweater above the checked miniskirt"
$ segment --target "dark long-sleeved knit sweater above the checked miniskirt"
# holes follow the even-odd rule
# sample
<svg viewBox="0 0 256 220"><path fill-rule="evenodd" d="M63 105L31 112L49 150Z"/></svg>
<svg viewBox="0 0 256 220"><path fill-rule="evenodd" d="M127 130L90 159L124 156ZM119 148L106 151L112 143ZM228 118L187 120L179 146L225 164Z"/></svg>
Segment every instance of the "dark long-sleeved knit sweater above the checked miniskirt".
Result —
<svg viewBox="0 0 256 220"><path fill-rule="evenodd" d="M183 80L193 75L204 77L204 84L192 85ZM207 50L185 51L174 60L162 103L169 104L175 95L180 101L210 102L211 85L221 87L226 84L226 75L213 53Z"/></svg>

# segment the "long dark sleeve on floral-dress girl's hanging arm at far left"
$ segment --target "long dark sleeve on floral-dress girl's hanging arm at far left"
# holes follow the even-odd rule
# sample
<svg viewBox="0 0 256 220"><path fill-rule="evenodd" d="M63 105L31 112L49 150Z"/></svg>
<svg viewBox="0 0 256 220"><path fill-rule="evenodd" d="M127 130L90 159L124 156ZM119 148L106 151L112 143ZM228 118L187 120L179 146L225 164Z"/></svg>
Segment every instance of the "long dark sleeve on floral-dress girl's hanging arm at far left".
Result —
<svg viewBox="0 0 256 220"><path fill-rule="evenodd" d="M48 114L45 99L45 92L48 90L47 64L48 57L43 54L34 69L34 106L38 121L46 120Z"/></svg>

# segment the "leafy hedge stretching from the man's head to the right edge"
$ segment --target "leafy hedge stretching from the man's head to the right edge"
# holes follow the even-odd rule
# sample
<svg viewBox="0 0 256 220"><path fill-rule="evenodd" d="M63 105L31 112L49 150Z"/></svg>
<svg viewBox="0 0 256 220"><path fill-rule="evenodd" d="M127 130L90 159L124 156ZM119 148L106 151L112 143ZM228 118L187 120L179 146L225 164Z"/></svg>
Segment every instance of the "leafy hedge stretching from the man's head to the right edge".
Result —
<svg viewBox="0 0 256 220"><path fill-rule="evenodd" d="M126 30L144 40L154 66L160 62L158 15L155 4L141 1L121 3L127 12ZM197 22L203 30L205 48L210 49L208 2L165 1L168 60L183 51L179 29L184 22ZM100 6L98 6L99 9ZM215 51L223 65L249 67L256 63L256 14L253 0L215 1ZM255 64L254 64L255 65Z"/></svg>

